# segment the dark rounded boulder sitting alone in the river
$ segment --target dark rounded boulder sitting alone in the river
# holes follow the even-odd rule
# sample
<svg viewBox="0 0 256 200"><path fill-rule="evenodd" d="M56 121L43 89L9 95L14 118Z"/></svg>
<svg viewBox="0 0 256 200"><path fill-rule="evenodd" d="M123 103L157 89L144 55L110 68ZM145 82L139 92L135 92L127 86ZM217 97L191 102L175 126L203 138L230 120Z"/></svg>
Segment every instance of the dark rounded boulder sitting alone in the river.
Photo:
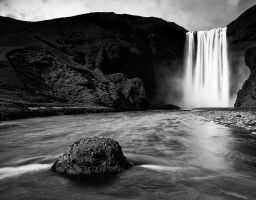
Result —
<svg viewBox="0 0 256 200"><path fill-rule="evenodd" d="M52 166L54 172L69 176L116 174L131 167L122 148L110 138L83 138L71 145Z"/></svg>

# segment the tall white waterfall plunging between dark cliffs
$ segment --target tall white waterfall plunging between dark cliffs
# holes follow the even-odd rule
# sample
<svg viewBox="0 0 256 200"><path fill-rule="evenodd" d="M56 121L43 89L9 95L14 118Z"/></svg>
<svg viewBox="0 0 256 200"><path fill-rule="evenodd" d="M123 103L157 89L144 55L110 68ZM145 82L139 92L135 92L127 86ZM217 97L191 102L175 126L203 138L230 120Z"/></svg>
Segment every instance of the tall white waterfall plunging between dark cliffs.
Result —
<svg viewBox="0 0 256 200"><path fill-rule="evenodd" d="M184 107L230 106L226 31L218 28L187 33Z"/></svg>

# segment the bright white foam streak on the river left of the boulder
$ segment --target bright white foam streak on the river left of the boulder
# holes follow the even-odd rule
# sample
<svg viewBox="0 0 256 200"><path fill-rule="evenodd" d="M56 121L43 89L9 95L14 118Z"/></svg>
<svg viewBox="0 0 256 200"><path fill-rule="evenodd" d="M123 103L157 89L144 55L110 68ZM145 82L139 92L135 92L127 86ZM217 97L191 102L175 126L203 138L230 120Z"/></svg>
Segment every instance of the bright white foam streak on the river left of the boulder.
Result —
<svg viewBox="0 0 256 200"><path fill-rule="evenodd" d="M3 167L0 168L0 180L13 176L19 176L25 173L49 169L50 167L51 164L29 164L17 167Z"/></svg>

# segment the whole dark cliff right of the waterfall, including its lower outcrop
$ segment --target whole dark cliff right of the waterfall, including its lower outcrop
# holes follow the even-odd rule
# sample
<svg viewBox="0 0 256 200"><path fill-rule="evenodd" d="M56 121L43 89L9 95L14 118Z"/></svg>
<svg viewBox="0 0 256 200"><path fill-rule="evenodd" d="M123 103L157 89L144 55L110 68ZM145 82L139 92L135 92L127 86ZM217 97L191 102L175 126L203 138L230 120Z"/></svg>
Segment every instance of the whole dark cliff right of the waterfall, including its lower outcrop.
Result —
<svg viewBox="0 0 256 200"><path fill-rule="evenodd" d="M242 83L235 107L256 107L256 6L230 23L227 30L233 88Z"/></svg>

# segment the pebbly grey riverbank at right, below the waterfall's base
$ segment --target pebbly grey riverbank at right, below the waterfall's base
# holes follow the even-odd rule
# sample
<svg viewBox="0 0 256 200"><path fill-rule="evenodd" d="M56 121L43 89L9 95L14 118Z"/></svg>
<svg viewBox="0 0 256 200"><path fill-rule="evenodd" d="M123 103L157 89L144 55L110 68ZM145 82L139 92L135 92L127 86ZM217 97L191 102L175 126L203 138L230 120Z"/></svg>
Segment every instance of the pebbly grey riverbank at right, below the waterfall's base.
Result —
<svg viewBox="0 0 256 200"><path fill-rule="evenodd" d="M228 127L243 128L256 134L256 109L195 109L194 112Z"/></svg>

